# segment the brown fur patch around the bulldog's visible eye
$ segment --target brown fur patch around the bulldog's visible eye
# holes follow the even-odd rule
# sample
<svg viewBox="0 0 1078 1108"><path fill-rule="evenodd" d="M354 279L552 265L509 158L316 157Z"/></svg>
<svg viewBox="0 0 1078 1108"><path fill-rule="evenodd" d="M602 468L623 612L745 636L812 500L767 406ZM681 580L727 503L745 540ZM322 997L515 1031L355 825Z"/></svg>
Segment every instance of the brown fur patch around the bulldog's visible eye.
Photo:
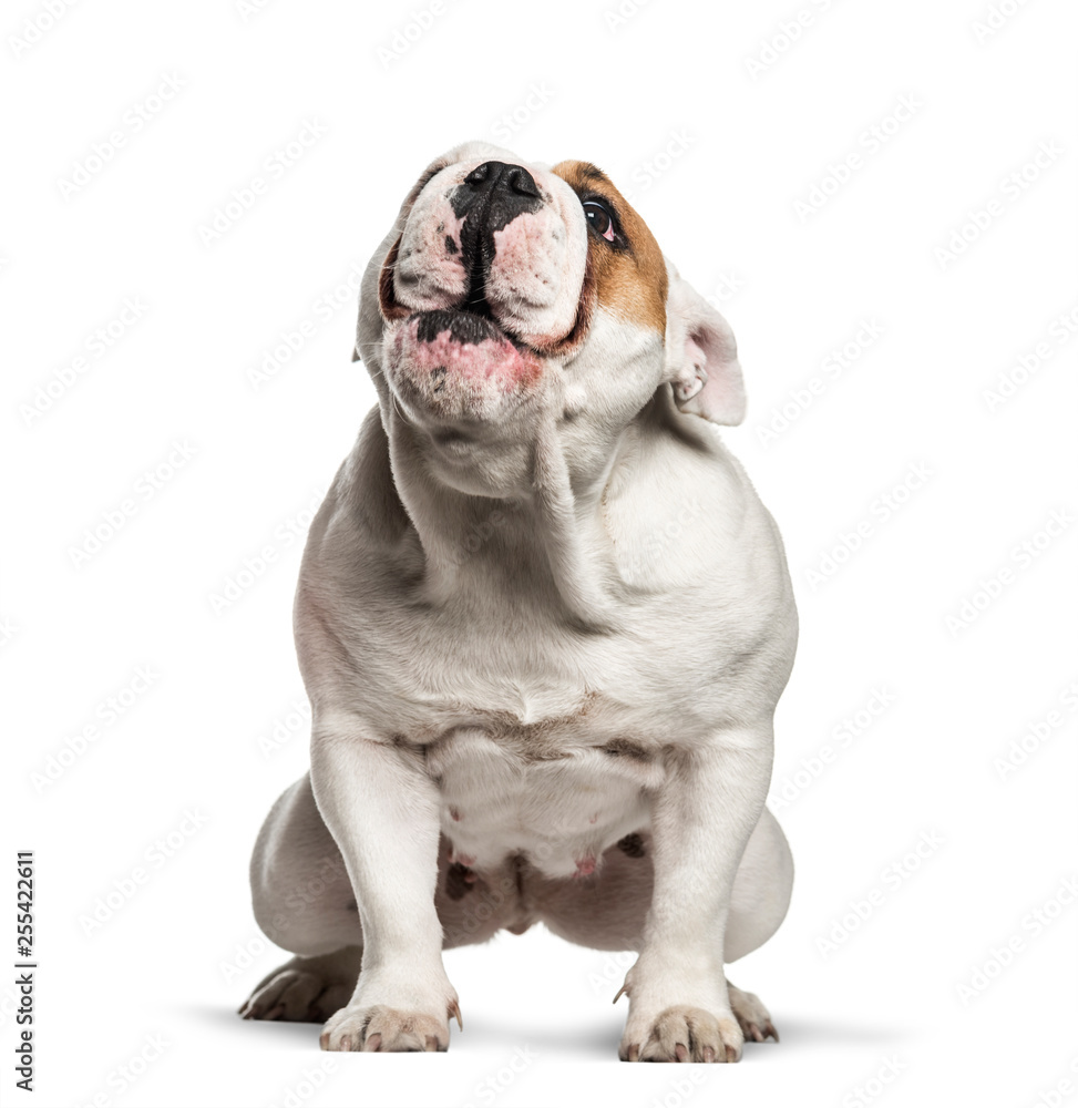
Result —
<svg viewBox="0 0 1078 1108"><path fill-rule="evenodd" d="M587 268L595 298L607 311L666 334L666 263L655 236L609 177L591 162L558 162L553 171L581 197L614 213L616 240L587 236Z"/></svg>

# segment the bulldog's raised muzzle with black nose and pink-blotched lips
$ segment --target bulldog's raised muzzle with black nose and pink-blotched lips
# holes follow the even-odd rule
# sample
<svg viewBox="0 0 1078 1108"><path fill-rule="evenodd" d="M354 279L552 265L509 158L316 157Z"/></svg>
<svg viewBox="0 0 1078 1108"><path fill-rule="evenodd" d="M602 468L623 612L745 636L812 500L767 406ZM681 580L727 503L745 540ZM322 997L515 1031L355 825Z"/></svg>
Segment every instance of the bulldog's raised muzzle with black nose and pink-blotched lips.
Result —
<svg viewBox="0 0 1078 1108"><path fill-rule="evenodd" d="M435 176L379 281L400 399L435 422L496 419L519 404L582 330L586 255L583 220L571 227L523 165Z"/></svg>

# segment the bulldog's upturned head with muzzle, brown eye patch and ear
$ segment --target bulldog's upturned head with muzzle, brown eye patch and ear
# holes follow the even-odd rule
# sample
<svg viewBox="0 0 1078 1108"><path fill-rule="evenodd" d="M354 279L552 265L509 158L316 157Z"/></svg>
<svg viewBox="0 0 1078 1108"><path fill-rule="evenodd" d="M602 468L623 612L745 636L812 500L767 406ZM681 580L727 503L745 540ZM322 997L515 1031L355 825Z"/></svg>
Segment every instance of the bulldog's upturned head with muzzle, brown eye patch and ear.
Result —
<svg viewBox="0 0 1078 1108"><path fill-rule="evenodd" d="M367 270L357 352L383 417L485 495L526 480L544 419L600 455L659 389L716 423L745 413L729 326L606 174L486 143L437 158L405 197Z"/></svg>

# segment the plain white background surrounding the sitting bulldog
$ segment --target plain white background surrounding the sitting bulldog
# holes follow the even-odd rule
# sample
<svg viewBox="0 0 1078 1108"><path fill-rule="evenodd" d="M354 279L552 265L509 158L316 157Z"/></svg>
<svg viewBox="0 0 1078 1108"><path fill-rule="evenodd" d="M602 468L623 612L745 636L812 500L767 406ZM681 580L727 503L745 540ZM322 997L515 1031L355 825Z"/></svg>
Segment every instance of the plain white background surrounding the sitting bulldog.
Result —
<svg viewBox="0 0 1078 1108"><path fill-rule="evenodd" d="M629 0L618 22L445 0L417 35L424 2L4 11L0 956L33 849L40 960L32 1097L0 978L4 1104L1078 1105L1074 9ZM772 790L794 900L731 972L782 1042L737 1067L618 1065L625 961L538 929L448 954L448 1055L330 1057L315 1026L234 1014L281 961L246 866L307 765L302 534L373 402L341 286L427 162L481 136L607 170L739 340L749 416L726 438L786 537L802 632ZM76 163L99 172L69 188ZM138 318L100 346L129 298ZM877 337L829 373L864 321Z"/></svg>

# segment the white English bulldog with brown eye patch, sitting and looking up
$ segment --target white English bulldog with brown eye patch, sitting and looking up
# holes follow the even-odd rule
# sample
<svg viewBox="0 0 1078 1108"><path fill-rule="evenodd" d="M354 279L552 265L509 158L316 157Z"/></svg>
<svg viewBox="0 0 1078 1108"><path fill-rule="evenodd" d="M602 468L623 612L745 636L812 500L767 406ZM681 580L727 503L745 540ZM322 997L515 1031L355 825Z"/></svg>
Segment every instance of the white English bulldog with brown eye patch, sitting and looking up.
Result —
<svg viewBox="0 0 1078 1108"><path fill-rule="evenodd" d="M295 957L240 1009L327 1050L444 1050L442 951L543 923L635 951L625 1061L778 1038L725 964L782 921L764 808L797 640L782 542L712 424L727 321L588 162L472 142L366 270L378 393L315 519L310 773L251 860Z"/></svg>

